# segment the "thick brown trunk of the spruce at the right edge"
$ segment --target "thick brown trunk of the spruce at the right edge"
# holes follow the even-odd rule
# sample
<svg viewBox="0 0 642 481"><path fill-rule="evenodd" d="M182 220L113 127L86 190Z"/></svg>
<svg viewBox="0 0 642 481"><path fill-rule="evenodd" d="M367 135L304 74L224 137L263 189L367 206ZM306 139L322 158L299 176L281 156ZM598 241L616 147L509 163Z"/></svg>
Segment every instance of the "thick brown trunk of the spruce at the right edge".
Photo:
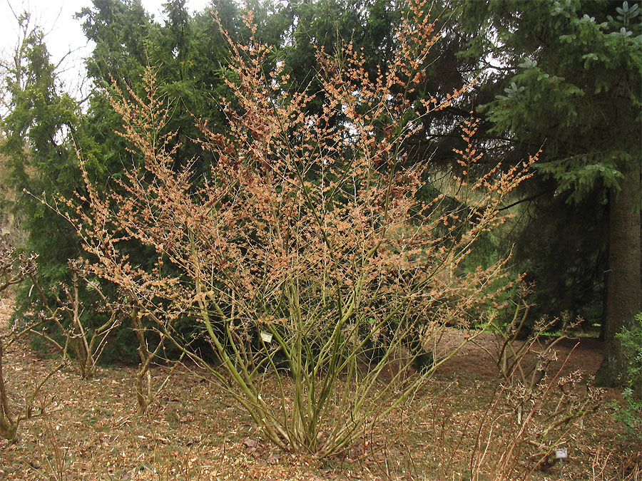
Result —
<svg viewBox="0 0 642 481"><path fill-rule="evenodd" d="M641 166L636 167L626 172L621 191L611 195L604 360L596 373L599 386L621 385L626 364L616 334L642 312L642 182Z"/></svg>

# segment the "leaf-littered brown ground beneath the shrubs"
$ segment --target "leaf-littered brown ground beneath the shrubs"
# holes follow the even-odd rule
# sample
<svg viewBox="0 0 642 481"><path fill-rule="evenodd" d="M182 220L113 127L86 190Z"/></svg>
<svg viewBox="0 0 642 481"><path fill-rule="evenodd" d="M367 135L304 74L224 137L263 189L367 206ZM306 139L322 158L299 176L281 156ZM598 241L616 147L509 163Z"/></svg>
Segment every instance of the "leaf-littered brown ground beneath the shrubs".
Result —
<svg viewBox="0 0 642 481"><path fill-rule="evenodd" d="M0 305L0 329L6 329L11 308L6 299ZM453 332L444 342L459 335ZM490 347L493 337L484 334L481 342ZM560 346L560 365L577 342ZM581 338L564 371L590 375L600 362L601 343ZM27 343L12 346L4 359L10 395L19 398L55 363ZM165 371L156 368L154 375L160 382ZM470 444L497 384L489 356L469 344L437 371L424 392L381 420L355 449L317 460L273 448L233 400L188 373L175 374L148 415L140 417L135 376L136 366L100 368L88 381L58 371L39 397L48 414L24 421L18 443L0 441L0 480L469 479ZM613 418L613 403L620 398L619 391L609 390L601 408L566 436L564 479L642 480L641 448L623 437ZM499 456L506 444L499 424L496 428L497 449L490 449L489 457ZM528 471L520 459L512 479ZM531 478L560 479L559 464Z"/></svg>

